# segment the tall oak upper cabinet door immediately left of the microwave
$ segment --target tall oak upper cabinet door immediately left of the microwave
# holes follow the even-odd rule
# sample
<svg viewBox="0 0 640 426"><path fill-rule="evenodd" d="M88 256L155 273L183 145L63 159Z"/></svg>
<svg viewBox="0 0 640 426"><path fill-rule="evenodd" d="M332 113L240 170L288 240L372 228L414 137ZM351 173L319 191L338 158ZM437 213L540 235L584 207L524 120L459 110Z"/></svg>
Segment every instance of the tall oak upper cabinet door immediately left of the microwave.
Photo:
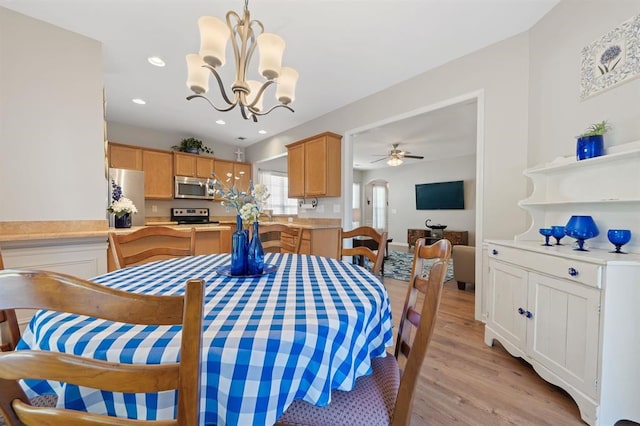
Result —
<svg viewBox="0 0 640 426"><path fill-rule="evenodd" d="M142 151L144 196L168 200L173 198L173 155L171 152Z"/></svg>

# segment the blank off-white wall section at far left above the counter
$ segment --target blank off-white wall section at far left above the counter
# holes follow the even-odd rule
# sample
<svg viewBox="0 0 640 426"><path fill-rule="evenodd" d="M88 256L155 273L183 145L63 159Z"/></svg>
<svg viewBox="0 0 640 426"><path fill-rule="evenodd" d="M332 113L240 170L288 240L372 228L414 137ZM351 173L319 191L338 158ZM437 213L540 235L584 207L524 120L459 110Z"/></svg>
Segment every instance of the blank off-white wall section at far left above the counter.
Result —
<svg viewBox="0 0 640 426"><path fill-rule="evenodd" d="M0 7L0 221L106 218L99 42Z"/></svg>

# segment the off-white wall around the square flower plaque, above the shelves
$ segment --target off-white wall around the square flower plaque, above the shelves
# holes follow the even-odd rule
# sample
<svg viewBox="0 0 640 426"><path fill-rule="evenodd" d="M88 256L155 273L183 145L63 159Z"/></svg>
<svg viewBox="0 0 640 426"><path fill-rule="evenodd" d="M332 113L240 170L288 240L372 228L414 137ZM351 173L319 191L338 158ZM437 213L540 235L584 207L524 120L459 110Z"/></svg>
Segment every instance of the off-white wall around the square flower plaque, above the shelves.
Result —
<svg viewBox="0 0 640 426"><path fill-rule="evenodd" d="M605 149L640 140L640 79L579 99L582 49L638 13L640 0L563 1L531 29L530 166L575 155L575 136L602 120Z"/></svg>

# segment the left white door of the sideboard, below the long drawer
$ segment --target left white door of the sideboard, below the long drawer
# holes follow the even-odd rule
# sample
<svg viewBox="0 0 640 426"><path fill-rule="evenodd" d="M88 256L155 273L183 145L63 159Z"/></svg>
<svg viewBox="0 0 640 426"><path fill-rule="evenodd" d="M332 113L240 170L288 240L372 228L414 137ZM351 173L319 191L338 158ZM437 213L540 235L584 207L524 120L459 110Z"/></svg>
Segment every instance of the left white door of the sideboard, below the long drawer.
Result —
<svg viewBox="0 0 640 426"><path fill-rule="evenodd" d="M524 352L527 338L527 271L489 260L487 326ZM516 354L514 354L516 355Z"/></svg>

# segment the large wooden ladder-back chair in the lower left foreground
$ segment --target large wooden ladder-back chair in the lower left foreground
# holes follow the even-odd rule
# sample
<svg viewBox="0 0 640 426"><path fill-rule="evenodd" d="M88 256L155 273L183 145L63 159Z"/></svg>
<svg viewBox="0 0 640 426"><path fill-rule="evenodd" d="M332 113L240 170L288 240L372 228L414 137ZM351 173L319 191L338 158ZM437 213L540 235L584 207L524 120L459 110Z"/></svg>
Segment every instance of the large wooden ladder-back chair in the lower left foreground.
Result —
<svg viewBox="0 0 640 426"><path fill-rule="evenodd" d="M181 325L180 361L123 364L59 352L0 353L0 414L14 425L158 424L198 425L204 281L189 280L184 296L116 290L70 275L46 271L0 271L0 309L69 312L128 324ZM174 420L115 418L29 403L19 379L72 383L108 392L155 393L176 389Z"/></svg>

